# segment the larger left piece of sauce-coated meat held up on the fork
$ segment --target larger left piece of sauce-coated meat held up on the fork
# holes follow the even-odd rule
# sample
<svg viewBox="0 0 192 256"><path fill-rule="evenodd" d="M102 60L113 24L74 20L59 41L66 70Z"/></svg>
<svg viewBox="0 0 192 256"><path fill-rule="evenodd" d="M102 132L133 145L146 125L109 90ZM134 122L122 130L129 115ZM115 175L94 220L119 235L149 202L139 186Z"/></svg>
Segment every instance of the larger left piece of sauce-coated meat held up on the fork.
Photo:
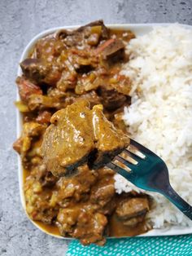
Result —
<svg viewBox="0 0 192 256"><path fill-rule="evenodd" d="M94 142L89 139L92 127L88 124L87 104L72 104L51 117L42 143L43 158L54 175L66 174L86 161Z"/></svg>

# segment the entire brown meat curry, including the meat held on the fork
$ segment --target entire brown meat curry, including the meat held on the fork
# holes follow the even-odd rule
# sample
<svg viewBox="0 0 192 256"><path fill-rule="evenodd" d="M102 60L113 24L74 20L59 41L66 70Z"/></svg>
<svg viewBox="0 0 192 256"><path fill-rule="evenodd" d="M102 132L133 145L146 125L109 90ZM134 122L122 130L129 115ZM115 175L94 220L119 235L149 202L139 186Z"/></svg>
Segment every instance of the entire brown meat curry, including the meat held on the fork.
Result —
<svg viewBox="0 0 192 256"><path fill-rule="evenodd" d="M129 61L124 46L132 38L131 31L108 29L102 20L59 30L37 41L16 79L20 101L15 104L24 124L13 147L24 168L27 213L49 232L75 237L83 245L103 245L106 236L147 231L148 197L137 192L118 195L114 171L100 165L103 156L111 161L129 143L121 116L133 85L120 70ZM76 113L86 114L87 122L77 123ZM98 137L90 125L94 115ZM83 151L78 151L74 134L74 144L68 144L66 129L76 126L87 139ZM103 151L95 138L108 135L109 128L119 143L109 142L111 148ZM89 139L93 130L96 137ZM74 150L78 153L73 156ZM86 157L92 157L92 166ZM76 174L63 176L70 170Z"/></svg>

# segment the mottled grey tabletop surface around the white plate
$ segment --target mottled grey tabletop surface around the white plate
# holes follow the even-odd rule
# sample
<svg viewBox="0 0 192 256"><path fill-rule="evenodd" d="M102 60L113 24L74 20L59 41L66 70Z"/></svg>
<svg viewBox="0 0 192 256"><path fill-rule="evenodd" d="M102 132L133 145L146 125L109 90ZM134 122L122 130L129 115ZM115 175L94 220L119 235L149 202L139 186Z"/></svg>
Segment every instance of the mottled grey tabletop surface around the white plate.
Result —
<svg viewBox="0 0 192 256"><path fill-rule="evenodd" d="M20 205L15 140L15 77L24 46L43 29L85 24L180 22L192 24L192 1L68 0L0 1L0 255L64 255L68 242L46 236Z"/></svg>

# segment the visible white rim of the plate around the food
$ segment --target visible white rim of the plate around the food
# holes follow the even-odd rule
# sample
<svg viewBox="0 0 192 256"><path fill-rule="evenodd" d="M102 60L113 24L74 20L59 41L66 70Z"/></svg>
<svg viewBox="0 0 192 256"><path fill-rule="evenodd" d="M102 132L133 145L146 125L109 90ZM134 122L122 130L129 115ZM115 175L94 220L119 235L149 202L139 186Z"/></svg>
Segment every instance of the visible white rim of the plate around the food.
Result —
<svg viewBox="0 0 192 256"><path fill-rule="evenodd" d="M106 24L107 27L111 29L131 29L131 30L136 30L141 32L144 31L145 29L150 32L154 27L158 26L169 26L169 25L174 25L174 24L179 24L182 27L186 29L191 29L192 26L189 24L180 24L180 23L148 23L148 24ZM22 52L20 56L20 61L18 64L18 70L17 70L17 76L20 76L22 74L21 68L20 68L20 62L22 62L28 55L29 51L31 51L32 47L34 46L35 42L39 38L42 38L46 36L49 33L55 33L59 29L76 29L80 27L81 24L77 25L68 25L68 26L59 26L59 27L53 27L50 29L45 29L41 31L40 33L37 33L27 44L27 46L24 47L24 51ZM145 34L145 32L143 33ZM20 95L17 90L16 92L16 100L20 100ZM20 133L22 130L22 120L21 120L21 114L18 108L15 109L16 112L16 137L20 137ZM24 189L23 189L23 167L21 164L20 160L20 155L18 154L17 156L17 161L18 161L18 179L19 179L19 187L20 187L20 201L21 205L23 206L24 212L27 215L29 221L33 223L35 227L37 227L41 232L46 233L47 235L59 238L59 239L64 239L64 240L75 240L75 238L72 237L64 237L64 236L58 236L55 234L52 234L50 232L47 232L45 229L43 229L41 226L39 226L37 223L35 223L31 218L29 218L28 213L26 211L26 205L25 205L25 199L24 199ZM192 227L182 227L182 226L171 226L171 227L165 227L161 229L152 229L149 232L146 232L142 235L139 235L137 237L150 237L150 236L177 236L177 235L186 235L186 234L191 234L192 233ZM126 238L129 238L129 236L125 236ZM124 236L121 237L107 237L107 239L114 239L114 238L124 238Z"/></svg>

